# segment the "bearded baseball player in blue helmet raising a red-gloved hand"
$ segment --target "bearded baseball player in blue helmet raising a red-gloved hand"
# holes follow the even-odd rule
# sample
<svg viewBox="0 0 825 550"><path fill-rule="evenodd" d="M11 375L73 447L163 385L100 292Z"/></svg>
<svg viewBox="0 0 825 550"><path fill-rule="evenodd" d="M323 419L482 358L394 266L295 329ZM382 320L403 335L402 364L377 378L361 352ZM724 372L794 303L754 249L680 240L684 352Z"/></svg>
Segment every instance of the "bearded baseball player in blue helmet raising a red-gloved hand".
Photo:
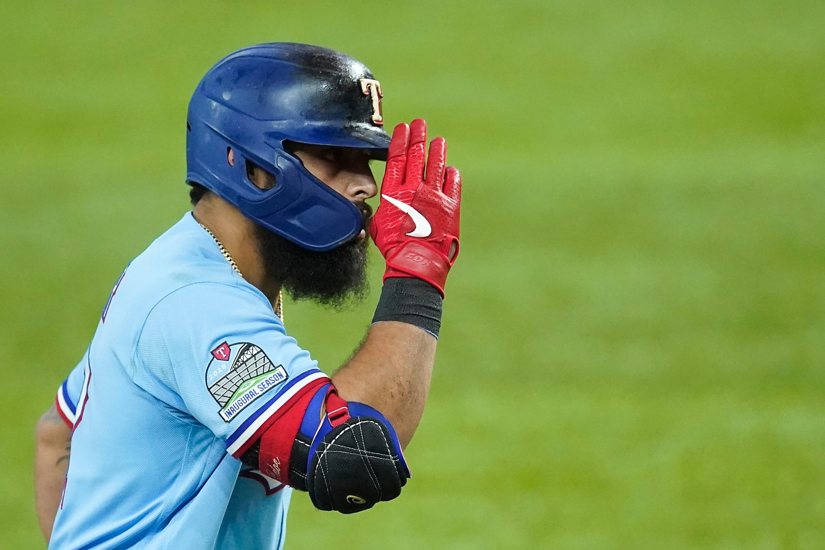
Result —
<svg viewBox="0 0 825 550"><path fill-rule="evenodd" d="M200 81L194 208L125 268L38 423L49 548L282 548L293 489L345 514L400 494L461 184L443 139L425 150L424 121L390 140L382 96L356 59L290 43L239 50ZM375 216L372 159L387 163ZM368 233L386 260L379 305L330 377L287 334L281 292L363 295Z"/></svg>

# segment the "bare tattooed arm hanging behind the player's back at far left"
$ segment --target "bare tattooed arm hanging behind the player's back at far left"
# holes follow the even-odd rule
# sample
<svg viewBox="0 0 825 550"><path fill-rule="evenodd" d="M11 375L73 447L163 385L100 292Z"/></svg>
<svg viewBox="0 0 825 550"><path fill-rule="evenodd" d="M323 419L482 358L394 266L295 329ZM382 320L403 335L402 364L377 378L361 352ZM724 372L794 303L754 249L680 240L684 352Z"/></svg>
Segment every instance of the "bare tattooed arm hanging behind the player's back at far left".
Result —
<svg viewBox="0 0 825 550"><path fill-rule="evenodd" d="M35 509L47 542L63 493L70 445L71 430L52 405L37 422L35 447Z"/></svg>

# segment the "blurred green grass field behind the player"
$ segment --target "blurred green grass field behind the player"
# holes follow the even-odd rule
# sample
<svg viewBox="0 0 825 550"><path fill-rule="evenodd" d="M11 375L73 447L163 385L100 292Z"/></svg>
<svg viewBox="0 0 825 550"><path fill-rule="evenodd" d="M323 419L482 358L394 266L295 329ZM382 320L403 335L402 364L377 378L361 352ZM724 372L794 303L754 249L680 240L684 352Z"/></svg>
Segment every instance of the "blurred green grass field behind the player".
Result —
<svg viewBox="0 0 825 550"><path fill-rule="evenodd" d="M293 40L364 60L388 127L446 135L464 206L413 481L352 517L296 494L286 548L825 548L823 21L821 0L0 3L0 547L43 547L35 420L186 211L191 90ZM287 304L328 371L372 267L354 311Z"/></svg>

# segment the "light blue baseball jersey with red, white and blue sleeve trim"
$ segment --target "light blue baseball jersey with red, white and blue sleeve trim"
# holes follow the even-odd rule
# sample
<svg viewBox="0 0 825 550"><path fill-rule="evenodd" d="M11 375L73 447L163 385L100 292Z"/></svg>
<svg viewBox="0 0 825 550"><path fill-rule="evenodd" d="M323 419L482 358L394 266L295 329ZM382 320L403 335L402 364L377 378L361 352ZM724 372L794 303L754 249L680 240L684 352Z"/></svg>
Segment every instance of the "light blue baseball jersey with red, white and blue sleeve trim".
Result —
<svg viewBox="0 0 825 550"><path fill-rule="evenodd" d="M291 489L237 457L326 378L187 213L59 388L72 453L49 548L281 548Z"/></svg>

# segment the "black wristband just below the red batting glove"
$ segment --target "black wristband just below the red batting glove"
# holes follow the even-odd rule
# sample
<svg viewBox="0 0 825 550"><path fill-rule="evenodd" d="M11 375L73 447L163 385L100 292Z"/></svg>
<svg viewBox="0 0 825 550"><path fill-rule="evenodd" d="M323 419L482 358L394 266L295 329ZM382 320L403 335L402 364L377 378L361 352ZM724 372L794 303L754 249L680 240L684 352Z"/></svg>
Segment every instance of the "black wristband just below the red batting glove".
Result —
<svg viewBox="0 0 825 550"><path fill-rule="evenodd" d="M427 330L438 338L444 298L429 282L413 277L389 277L381 289L373 323L401 321Z"/></svg>

